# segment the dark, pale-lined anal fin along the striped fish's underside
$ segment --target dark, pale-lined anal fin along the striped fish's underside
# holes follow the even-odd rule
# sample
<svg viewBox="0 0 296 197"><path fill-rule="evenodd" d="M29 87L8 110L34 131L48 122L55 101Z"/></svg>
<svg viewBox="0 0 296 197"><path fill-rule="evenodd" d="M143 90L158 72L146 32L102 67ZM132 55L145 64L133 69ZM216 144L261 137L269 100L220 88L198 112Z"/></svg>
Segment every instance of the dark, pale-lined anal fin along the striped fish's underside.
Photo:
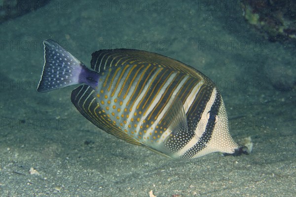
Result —
<svg viewBox="0 0 296 197"><path fill-rule="evenodd" d="M96 97L96 92L88 85L82 85L72 91L71 101L76 109L91 123L103 131L123 139L129 143L141 145L139 141L121 131L118 126L113 123L105 111L100 107Z"/></svg>

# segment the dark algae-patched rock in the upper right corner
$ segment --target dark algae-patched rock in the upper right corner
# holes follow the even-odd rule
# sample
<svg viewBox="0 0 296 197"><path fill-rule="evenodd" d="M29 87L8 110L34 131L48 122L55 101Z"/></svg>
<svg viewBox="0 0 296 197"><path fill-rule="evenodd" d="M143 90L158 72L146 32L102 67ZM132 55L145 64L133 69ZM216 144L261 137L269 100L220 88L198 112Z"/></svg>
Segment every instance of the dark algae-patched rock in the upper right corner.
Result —
<svg viewBox="0 0 296 197"><path fill-rule="evenodd" d="M246 21L270 41L296 41L295 0L244 0Z"/></svg>

